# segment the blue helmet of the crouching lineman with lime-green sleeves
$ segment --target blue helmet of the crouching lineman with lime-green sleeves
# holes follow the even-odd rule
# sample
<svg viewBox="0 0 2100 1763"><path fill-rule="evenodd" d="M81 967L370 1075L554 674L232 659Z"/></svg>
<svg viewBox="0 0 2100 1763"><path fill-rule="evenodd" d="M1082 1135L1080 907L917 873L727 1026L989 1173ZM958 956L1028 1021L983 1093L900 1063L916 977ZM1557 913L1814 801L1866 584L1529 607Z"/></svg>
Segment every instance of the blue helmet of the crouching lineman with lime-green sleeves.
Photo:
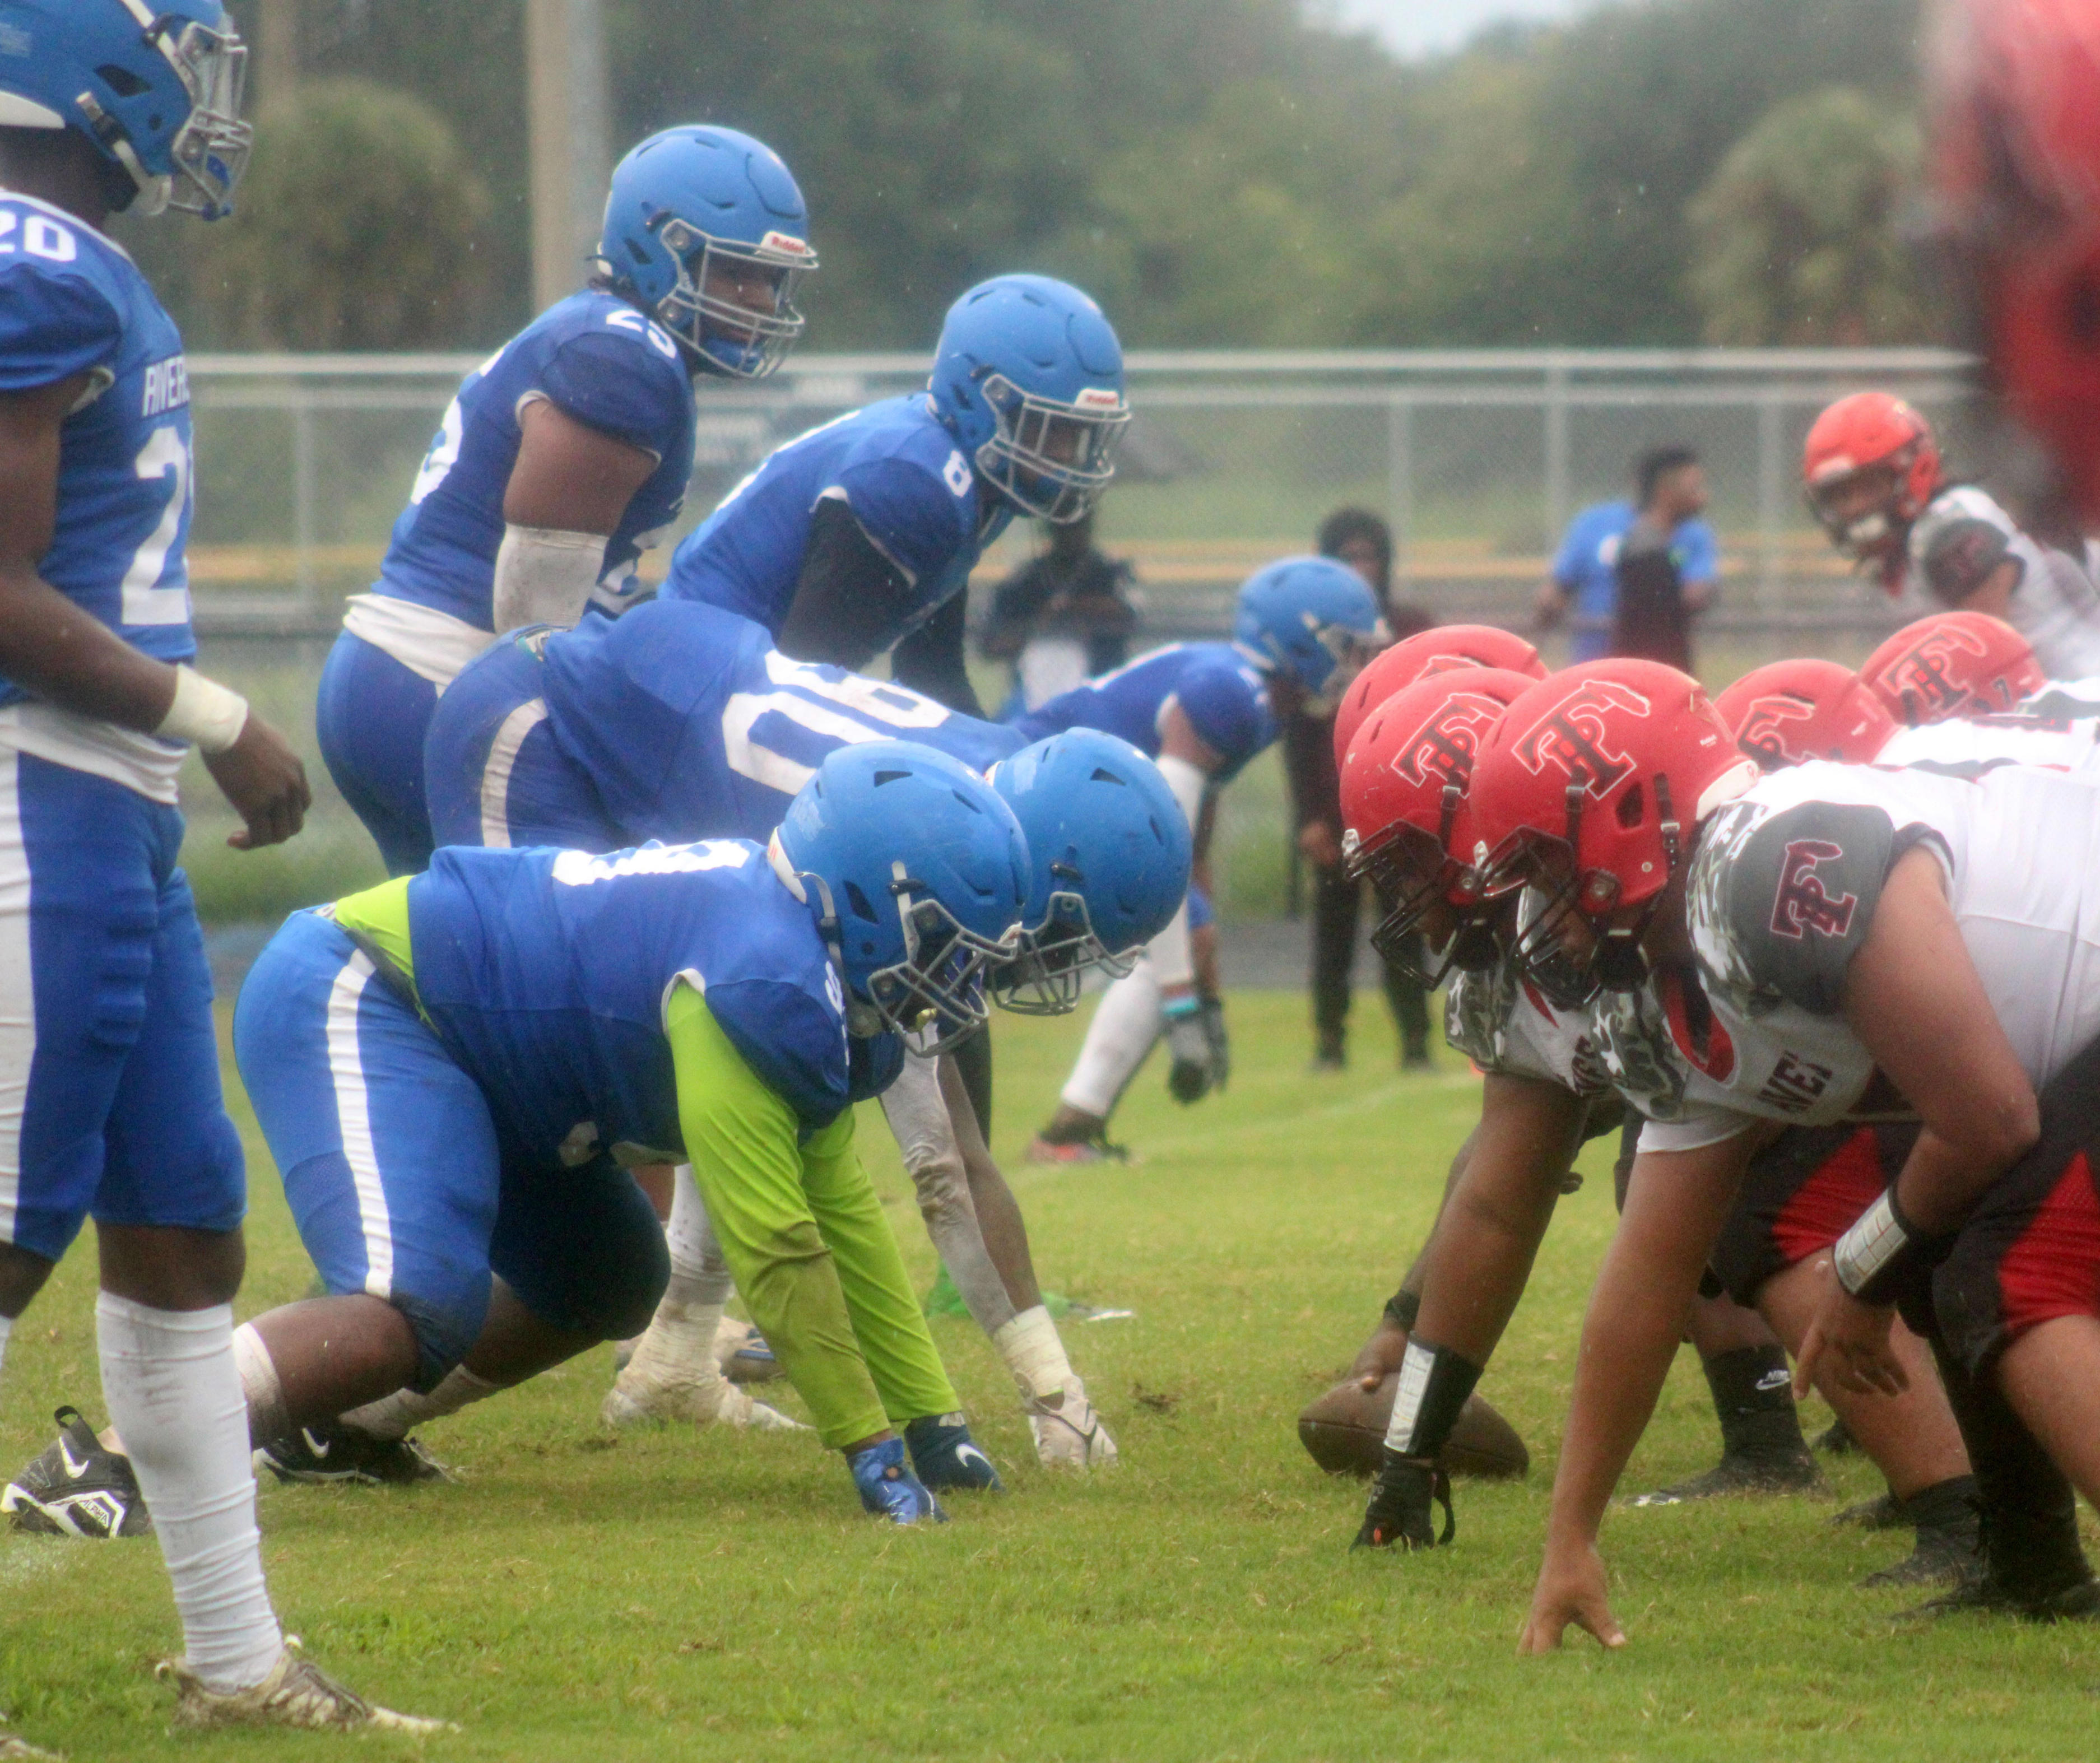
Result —
<svg viewBox="0 0 2100 1763"><path fill-rule="evenodd" d="M844 972L857 1035L985 1022L987 961L1012 955L1029 898L1021 823L974 770L911 741L825 756L773 833Z"/></svg>

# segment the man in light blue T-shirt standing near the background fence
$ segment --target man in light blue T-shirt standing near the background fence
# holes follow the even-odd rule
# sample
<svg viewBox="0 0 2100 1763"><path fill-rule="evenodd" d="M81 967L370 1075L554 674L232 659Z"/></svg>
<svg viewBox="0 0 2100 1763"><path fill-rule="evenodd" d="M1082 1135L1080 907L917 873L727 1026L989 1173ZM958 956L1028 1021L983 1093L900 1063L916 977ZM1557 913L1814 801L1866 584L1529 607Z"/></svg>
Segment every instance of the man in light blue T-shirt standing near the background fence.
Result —
<svg viewBox="0 0 2100 1763"><path fill-rule="evenodd" d="M1598 502L1569 521L1552 579L1539 588L1539 630L1569 621L1571 663L1642 655L1690 672L1686 625L1720 577L1720 546L1701 518L1705 470L1690 447L1651 447L1634 464L1634 483L1636 500ZM1621 560L1632 562L1630 575ZM1670 642L1682 649L1657 646Z"/></svg>

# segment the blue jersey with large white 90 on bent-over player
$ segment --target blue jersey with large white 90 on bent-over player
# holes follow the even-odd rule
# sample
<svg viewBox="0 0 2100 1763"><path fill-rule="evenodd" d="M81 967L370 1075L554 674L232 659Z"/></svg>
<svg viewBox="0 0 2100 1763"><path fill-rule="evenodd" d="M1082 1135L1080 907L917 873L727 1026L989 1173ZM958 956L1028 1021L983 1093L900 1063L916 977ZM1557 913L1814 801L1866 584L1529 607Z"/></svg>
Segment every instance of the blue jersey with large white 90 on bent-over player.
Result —
<svg viewBox="0 0 2100 1763"><path fill-rule="evenodd" d="M972 770L1027 745L1014 728L903 686L790 661L750 619L691 600L552 632L540 691L554 745L590 774L630 844L762 840L825 756L853 741L922 741Z"/></svg>

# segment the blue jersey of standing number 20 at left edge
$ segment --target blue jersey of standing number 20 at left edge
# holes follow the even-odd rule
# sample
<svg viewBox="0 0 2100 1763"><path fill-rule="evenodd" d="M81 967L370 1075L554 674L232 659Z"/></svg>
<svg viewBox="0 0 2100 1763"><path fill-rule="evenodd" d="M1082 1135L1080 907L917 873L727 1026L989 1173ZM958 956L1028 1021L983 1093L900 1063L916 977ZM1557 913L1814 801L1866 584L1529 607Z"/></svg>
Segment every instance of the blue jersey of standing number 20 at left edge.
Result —
<svg viewBox="0 0 2100 1763"><path fill-rule="evenodd" d="M0 191L0 392L88 376L59 432L59 518L38 575L160 661L189 630L189 376L183 336L124 248ZM27 693L0 680L0 703Z"/></svg>

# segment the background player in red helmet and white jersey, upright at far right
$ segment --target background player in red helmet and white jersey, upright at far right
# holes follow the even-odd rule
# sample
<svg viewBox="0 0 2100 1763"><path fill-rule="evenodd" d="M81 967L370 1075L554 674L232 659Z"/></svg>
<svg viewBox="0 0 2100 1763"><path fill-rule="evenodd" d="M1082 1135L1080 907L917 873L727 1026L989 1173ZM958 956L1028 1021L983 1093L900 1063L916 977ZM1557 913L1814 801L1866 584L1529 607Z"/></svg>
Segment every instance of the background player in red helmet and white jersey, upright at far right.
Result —
<svg viewBox="0 0 2100 1763"><path fill-rule="evenodd" d="M1808 430L1802 479L1831 544L1890 598L2006 619L2052 678L2100 674L2100 590L2083 550L2045 546L1989 491L1949 483L1932 424L1903 399L1838 399Z"/></svg>

